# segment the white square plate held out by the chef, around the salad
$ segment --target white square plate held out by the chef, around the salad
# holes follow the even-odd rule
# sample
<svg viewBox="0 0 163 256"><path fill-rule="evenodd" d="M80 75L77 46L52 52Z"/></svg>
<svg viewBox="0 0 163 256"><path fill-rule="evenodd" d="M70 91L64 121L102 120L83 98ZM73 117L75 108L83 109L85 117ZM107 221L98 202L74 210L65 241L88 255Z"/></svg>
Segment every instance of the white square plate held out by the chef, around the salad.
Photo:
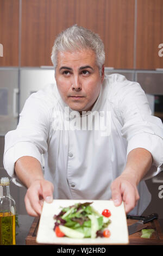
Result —
<svg viewBox="0 0 163 256"><path fill-rule="evenodd" d="M99 214L102 214L104 209L111 212L109 217L111 223L108 225L110 237L97 237L96 239L72 239L70 237L57 237L54 232L55 220L53 216L59 214L61 207L65 208L76 203L93 202L91 205ZM126 212L124 204L115 206L112 200L53 200L51 204L43 203L43 208L40 216L39 228L36 237L37 243L46 243L53 245L125 245L129 243L128 227L126 220Z"/></svg>

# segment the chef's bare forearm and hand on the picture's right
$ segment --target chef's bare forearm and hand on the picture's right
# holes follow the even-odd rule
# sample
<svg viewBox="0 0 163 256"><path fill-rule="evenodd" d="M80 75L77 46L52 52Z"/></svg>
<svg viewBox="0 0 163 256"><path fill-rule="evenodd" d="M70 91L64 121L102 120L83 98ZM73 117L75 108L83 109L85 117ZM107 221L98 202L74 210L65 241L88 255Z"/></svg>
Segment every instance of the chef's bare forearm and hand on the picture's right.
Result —
<svg viewBox="0 0 163 256"><path fill-rule="evenodd" d="M134 209L139 193L137 185L152 166L152 154L143 148L130 151L126 168L111 184L112 200L116 206L124 201L126 213Z"/></svg>

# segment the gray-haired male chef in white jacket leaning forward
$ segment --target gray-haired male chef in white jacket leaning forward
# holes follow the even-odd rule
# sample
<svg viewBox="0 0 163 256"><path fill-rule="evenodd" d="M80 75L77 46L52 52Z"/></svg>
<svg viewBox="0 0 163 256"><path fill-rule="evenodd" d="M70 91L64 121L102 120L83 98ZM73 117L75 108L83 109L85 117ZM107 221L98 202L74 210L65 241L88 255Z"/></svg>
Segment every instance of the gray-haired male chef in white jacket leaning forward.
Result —
<svg viewBox="0 0 163 256"><path fill-rule="evenodd" d="M5 136L4 167L27 187L28 214L53 199L112 199L142 214L151 201L145 180L163 167L163 125L145 92L104 74L104 44L86 28L61 32L51 58L55 83L29 96Z"/></svg>

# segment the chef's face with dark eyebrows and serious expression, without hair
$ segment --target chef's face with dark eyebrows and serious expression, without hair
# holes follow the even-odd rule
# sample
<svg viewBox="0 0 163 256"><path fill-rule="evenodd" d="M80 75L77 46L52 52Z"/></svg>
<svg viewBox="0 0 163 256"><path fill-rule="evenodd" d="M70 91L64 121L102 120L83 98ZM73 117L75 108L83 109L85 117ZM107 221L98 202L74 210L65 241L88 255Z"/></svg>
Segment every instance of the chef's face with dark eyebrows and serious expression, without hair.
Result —
<svg viewBox="0 0 163 256"><path fill-rule="evenodd" d="M55 80L62 100L75 111L90 111L104 79L92 50L59 52Z"/></svg>

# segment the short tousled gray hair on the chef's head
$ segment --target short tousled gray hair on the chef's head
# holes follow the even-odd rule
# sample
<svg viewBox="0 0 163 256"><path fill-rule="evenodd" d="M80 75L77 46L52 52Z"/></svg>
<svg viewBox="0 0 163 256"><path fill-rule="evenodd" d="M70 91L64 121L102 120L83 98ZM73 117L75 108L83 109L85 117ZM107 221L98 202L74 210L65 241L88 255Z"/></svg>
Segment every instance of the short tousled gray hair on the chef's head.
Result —
<svg viewBox="0 0 163 256"><path fill-rule="evenodd" d="M58 52L74 51L91 48L96 54L96 64L101 74L102 66L105 62L104 44L98 34L86 29L73 25L62 31L54 41L52 48L51 60L54 69L57 67Z"/></svg>

